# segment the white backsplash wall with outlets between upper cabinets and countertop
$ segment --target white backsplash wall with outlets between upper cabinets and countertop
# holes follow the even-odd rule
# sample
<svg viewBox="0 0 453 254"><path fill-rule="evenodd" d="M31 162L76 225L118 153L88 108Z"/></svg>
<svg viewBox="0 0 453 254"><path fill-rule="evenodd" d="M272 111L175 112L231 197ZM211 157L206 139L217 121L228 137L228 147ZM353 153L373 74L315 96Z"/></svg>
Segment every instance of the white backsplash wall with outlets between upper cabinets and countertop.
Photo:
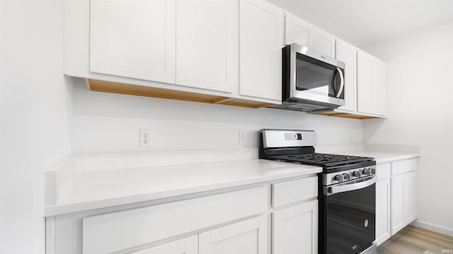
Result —
<svg viewBox="0 0 453 254"><path fill-rule="evenodd" d="M356 119L91 92L80 78L73 99L74 153L258 147L260 128L315 130L319 145L362 143ZM150 148L139 147L139 129L151 130ZM246 131L243 145L239 131Z"/></svg>

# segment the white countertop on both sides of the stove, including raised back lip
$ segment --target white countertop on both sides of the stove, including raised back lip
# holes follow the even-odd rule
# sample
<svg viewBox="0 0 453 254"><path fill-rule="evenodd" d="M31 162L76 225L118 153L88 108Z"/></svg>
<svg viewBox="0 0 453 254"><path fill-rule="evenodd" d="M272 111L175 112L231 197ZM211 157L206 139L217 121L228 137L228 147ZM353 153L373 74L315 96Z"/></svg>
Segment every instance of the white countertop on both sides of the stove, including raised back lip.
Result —
<svg viewBox="0 0 453 254"><path fill-rule="evenodd" d="M420 156L382 150L322 152L373 157L377 164ZM256 149L248 149L180 151L176 155L175 152L73 155L59 169L46 174L48 198L44 215L127 205L322 171L321 167L253 159L257 153Z"/></svg>

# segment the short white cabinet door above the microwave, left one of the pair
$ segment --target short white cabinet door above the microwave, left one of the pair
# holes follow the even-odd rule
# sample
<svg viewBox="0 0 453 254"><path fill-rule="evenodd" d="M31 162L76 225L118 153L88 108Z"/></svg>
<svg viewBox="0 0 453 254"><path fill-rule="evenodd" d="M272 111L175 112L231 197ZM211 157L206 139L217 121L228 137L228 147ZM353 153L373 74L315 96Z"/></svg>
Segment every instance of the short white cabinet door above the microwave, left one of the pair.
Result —
<svg viewBox="0 0 453 254"><path fill-rule="evenodd" d="M287 13L285 16L285 44L299 44L311 48L313 45L313 25Z"/></svg>

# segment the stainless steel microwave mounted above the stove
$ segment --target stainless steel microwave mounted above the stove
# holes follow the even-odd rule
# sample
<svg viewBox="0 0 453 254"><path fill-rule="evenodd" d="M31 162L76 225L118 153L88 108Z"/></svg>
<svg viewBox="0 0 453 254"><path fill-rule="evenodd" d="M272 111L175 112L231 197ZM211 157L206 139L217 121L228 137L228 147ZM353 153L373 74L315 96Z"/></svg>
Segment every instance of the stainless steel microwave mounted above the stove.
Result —
<svg viewBox="0 0 453 254"><path fill-rule="evenodd" d="M282 104L273 108L316 112L345 104L345 63L298 44L282 50Z"/></svg>

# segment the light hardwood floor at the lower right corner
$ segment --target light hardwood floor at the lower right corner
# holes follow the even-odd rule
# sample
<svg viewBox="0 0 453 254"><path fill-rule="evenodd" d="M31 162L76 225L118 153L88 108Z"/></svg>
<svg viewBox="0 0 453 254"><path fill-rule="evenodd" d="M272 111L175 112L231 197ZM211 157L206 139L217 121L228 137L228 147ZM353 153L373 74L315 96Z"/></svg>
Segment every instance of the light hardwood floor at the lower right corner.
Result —
<svg viewBox="0 0 453 254"><path fill-rule="evenodd" d="M453 237L406 226L377 248L379 254L453 254Z"/></svg>

